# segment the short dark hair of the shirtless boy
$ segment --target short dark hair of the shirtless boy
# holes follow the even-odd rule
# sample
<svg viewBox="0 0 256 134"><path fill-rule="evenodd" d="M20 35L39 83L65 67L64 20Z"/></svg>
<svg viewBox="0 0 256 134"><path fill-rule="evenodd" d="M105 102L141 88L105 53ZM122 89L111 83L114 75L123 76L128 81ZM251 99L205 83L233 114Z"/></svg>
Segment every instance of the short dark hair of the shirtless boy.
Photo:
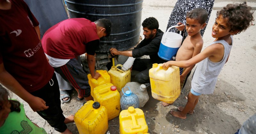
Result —
<svg viewBox="0 0 256 134"><path fill-rule="evenodd" d="M208 18L208 12L203 8L196 8L189 11L186 18L198 20L198 22L203 25Z"/></svg>

